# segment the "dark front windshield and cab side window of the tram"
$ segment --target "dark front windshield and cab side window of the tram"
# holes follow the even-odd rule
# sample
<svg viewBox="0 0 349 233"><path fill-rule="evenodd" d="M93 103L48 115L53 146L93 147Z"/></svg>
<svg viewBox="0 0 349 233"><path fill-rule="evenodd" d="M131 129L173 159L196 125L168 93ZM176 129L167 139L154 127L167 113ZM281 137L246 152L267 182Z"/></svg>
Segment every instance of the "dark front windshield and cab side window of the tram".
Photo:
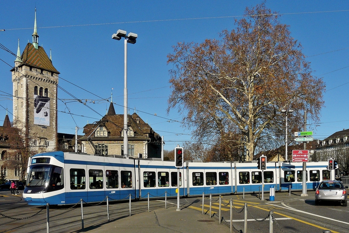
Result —
<svg viewBox="0 0 349 233"><path fill-rule="evenodd" d="M35 165L28 173L27 186L63 185L63 168L54 165Z"/></svg>

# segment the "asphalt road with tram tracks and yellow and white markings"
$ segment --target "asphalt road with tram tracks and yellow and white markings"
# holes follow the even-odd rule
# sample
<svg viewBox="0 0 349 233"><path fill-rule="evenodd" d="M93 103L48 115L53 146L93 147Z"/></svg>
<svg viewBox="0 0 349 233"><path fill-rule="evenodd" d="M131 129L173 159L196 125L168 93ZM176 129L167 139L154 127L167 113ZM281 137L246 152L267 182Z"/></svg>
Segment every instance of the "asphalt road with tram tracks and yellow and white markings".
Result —
<svg viewBox="0 0 349 233"><path fill-rule="evenodd" d="M9 191L0 192L0 213L11 219L0 216L1 232L46 232L46 207L27 205L22 195L8 195ZM349 207L340 204L327 203L315 206L314 192L308 191L309 196L300 196L301 192L293 192L291 196L287 192L276 192L275 202L262 201L258 195L227 195L222 197L221 216L222 224L230 225L230 198L233 200L232 225L233 232L244 232L244 203L247 203L247 232L268 233L269 220L261 220L268 216L269 211L274 211L274 232L304 232L321 233L325 229L332 232L349 232ZM264 195L266 199L269 194ZM204 218L209 219L209 199L204 199ZM212 198L211 210L213 218L218 218L218 196ZM167 206L176 205L176 199L168 199ZM180 205L202 211L202 197L181 198ZM60 209L61 208L61 209ZM164 208L164 200L152 199L150 210ZM40 212L39 212L40 211ZM131 213L137 214L148 211L147 201L132 202ZM39 213L38 213L39 212ZM238 213L240 212L240 213ZM38 214L36 214L38 213ZM111 203L109 205L110 219L127 218L129 215L128 202ZM33 217L32 215L36 214ZM74 232L81 229L81 208L76 206L50 206L50 232ZM92 226L107 222L105 202L96 206L84 204L84 226ZM30 217L30 218L28 218ZM26 218L26 219L22 219Z"/></svg>

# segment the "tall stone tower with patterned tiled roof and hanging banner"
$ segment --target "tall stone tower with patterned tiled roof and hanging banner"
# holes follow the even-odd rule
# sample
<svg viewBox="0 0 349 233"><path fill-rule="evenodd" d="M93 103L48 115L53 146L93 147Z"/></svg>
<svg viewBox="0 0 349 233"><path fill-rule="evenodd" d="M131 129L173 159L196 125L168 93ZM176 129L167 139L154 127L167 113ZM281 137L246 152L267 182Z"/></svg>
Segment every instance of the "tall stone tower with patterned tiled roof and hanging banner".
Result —
<svg viewBox="0 0 349 233"><path fill-rule="evenodd" d="M28 138L33 150L54 151L57 144L57 85L59 72L51 54L38 45L36 9L33 43L22 55L18 39L17 58L11 70L13 82L13 125Z"/></svg>

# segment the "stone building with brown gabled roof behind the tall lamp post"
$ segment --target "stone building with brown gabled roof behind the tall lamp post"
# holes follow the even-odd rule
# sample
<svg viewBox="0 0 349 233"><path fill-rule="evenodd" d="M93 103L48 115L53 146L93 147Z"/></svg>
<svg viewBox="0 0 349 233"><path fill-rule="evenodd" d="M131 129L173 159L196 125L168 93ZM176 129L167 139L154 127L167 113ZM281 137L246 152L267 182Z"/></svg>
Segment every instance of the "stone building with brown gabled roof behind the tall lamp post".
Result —
<svg viewBox="0 0 349 233"><path fill-rule="evenodd" d="M83 152L102 155L124 155L123 137L124 115L116 114L110 103L109 110L101 121L84 126L84 136L79 140ZM161 158L162 138L148 123L136 113L128 115L128 155L129 157Z"/></svg>

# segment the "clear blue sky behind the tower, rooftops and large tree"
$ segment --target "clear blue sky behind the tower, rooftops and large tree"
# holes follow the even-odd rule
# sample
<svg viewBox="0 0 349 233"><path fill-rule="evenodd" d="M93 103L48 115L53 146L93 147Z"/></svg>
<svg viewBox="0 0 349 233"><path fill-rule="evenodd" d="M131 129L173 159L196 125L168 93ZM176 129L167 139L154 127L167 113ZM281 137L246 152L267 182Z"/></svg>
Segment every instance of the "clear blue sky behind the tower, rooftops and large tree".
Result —
<svg viewBox="0 0 349 233"><path fill-rule="evenodd" d="M165 149L172 150L177 144L190 141L191 132L176 122L181 120L176 109L166 114L171 92L169 69L172 68L166 64L167 54L173 51L172 46L177 42L200 43L205 38L218 38L222 30L235 28L234 19L241 19L247 6L258 3L261 1L5 0L0 2L0 29L6 29L0 31L0 43L16 53L17 39L20 38L23 52L28 40L32 42L36 7L39 45L43 45L48 54L52 49L53 65L61 73L60 77L104 99L110 97L111 88L114 88L113 102L119 104L114 105L116 113L123 114L120 105L123 104L124 42L113 40L111 36L118 29L138 34L137 43L128 44L130 113L138 112L164 136ZM349 11L339 11L349 10L349 2L269 0L266 6L283 14L280 21L290 26L291 36L302 44L313 74L323 77L326 83L325 107L320 122L308 122L312 127L319 125L314 129L314 137L324 139L336 131L348 129ZM98 25L74 26L82 24ZM321 55L313 56L317 54ZM14 65L15 58L8 52L0 50L0 58ZM0 90L7 93L12 93L10 69L0 61ZM91 108L105 115L109 103L99 101L101 98L62 79L60 87L78 99L88 100ZM72 99L61 89L58 95L60 99ZM0 105L8 108L12 120L12 101L8 98L11 97L0 95ZM92 100L95 104L90 103ZM0 125L6 114L1 106ZM82 134L87 121L92 123L101 118L76 101L67 103L67 107L72 113L84 117L72 118L69 114L58 113L59 132L74 133L77 124L79 134ZM58 102L58 110L68 111L62 101Z"/></svg>

